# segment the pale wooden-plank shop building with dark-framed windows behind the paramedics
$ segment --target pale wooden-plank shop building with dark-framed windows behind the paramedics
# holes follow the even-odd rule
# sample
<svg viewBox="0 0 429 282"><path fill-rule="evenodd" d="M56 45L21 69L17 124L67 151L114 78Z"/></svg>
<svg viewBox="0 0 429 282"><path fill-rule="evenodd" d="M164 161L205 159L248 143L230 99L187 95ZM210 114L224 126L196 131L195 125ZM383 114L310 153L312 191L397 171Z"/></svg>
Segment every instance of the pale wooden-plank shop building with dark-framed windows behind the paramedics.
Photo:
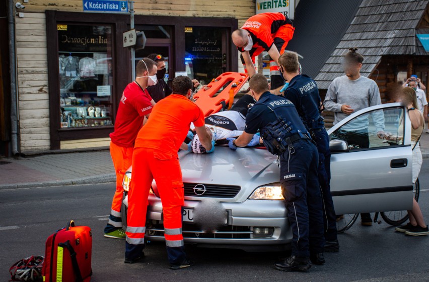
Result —
<svg viewBox="0 0 429 282"><path fill-rule="evenodd" d="M255 3L135 0L135 29L149 53L168 59L168 78L187 72L202 82L238 70L231 32ZM124 87L132 81L123 48L129 14L84 13L82 0L29 0L16 9L20 152L104 147Z"/></svg>

